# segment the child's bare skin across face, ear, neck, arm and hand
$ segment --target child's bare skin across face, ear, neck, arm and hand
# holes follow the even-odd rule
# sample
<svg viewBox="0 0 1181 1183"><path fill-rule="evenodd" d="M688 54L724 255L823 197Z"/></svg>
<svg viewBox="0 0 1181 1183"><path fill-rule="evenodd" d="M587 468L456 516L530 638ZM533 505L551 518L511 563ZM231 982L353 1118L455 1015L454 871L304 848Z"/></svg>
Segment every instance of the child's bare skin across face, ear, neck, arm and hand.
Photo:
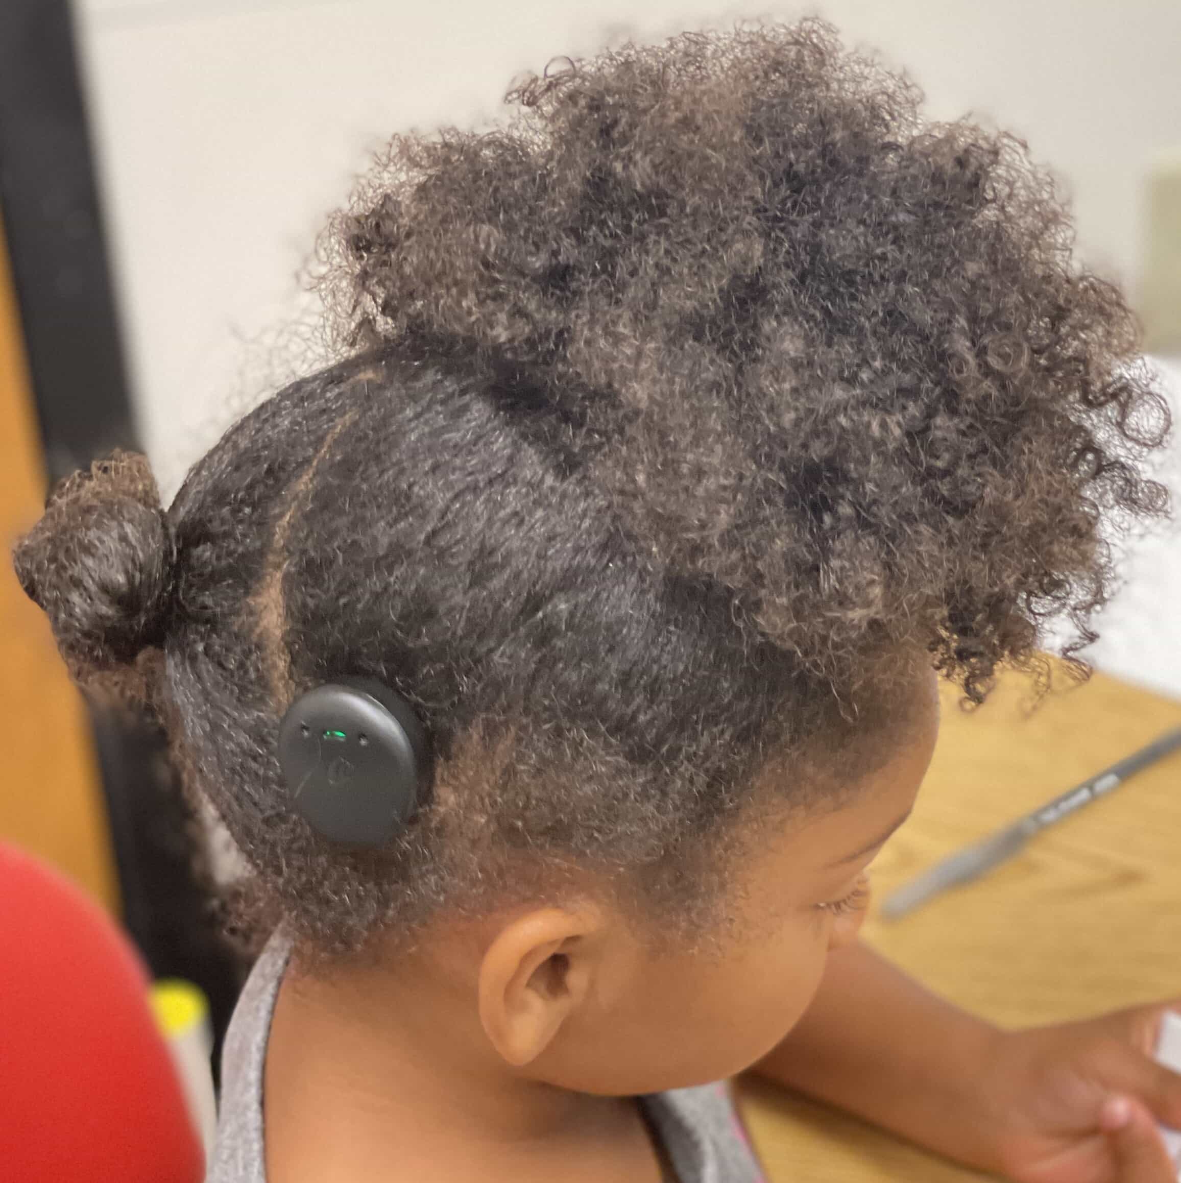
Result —
<svg viewBox="0 0 1181 1183"><path fill-rule="evenodd" d="M856 943L859 881L937 732L934 677L908 691L914 725L848 804L764 834L721 951L653 951L588 883L330 975L292 965L271 1183L667 1183L635 1098L753 1065L1021 1183L1172 1181L1154 1118L1181 1126L1181 1079L1145 1054L1161 1008L1000 1032Z"/></svg>

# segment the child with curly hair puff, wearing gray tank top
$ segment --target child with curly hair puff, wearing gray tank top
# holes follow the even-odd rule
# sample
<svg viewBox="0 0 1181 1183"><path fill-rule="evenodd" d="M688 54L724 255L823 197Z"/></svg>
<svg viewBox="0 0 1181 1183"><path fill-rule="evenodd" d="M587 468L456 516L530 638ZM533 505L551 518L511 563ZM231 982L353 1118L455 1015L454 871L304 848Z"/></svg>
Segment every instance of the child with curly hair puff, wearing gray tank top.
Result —
<svg viewBox="0 0 1181 1183"><path fill-rule="evenodd" d="M751 1066L1026 1183L1173 1178L1161 1008L1001 1032L854 942L936 675L980 702L1050 616L1069 657L1164 509L1119 292L1019 141L820 24L509 98L336 220L338 364L167 511L118 457L17 548L279 918L211 1179L744 1183ZM422 729L376 836L325 686Z"/></svg>

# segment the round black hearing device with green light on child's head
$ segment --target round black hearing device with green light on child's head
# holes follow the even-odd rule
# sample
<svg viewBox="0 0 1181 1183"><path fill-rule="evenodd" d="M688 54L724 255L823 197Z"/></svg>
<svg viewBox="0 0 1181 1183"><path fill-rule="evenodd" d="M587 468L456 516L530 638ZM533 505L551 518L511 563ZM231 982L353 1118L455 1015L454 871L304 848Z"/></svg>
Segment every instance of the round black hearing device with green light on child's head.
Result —
<svg viewBox="0 0 1181 1183"><path fill-rule="evenodd" d="M381 846L430 789L430 748L414 709L369 678L337 678L301 694L279 724L291 803L334 842Z"/></svg>

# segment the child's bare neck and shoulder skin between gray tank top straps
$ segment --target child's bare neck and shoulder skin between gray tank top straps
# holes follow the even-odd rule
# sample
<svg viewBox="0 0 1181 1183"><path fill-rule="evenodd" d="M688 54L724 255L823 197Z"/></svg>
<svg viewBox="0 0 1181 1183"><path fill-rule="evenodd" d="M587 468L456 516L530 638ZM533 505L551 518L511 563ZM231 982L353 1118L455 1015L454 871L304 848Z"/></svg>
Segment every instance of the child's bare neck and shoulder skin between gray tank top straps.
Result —
<svg viewBox="0 0 1181 1183"><path fill-rule="evenodd" d="M414 969L289 970L264 1084L269 1183L659 1183L639 1107L514 1073Z"/></svg>

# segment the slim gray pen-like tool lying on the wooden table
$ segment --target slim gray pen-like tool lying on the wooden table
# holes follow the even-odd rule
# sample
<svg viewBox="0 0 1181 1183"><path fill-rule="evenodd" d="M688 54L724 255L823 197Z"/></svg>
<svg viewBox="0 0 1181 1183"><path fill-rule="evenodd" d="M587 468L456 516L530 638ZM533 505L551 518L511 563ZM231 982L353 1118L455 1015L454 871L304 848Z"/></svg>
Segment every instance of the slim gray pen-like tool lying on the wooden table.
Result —
<svg viewBox="0 0 1181 1183"><path fill-rule="evenodd" d="M925 904L932 896L982 875L1017 854L1039 830L1082 809L1097 797L1105 796L1134 772L1162 759L1177 748L1181 748L1181 728L1166 731L1147 746L1088 777L1082 784L1039 806L1013 825L937 862L930 871L891 892L882 903L882 916L889 920L897 919Z"/></svg>

